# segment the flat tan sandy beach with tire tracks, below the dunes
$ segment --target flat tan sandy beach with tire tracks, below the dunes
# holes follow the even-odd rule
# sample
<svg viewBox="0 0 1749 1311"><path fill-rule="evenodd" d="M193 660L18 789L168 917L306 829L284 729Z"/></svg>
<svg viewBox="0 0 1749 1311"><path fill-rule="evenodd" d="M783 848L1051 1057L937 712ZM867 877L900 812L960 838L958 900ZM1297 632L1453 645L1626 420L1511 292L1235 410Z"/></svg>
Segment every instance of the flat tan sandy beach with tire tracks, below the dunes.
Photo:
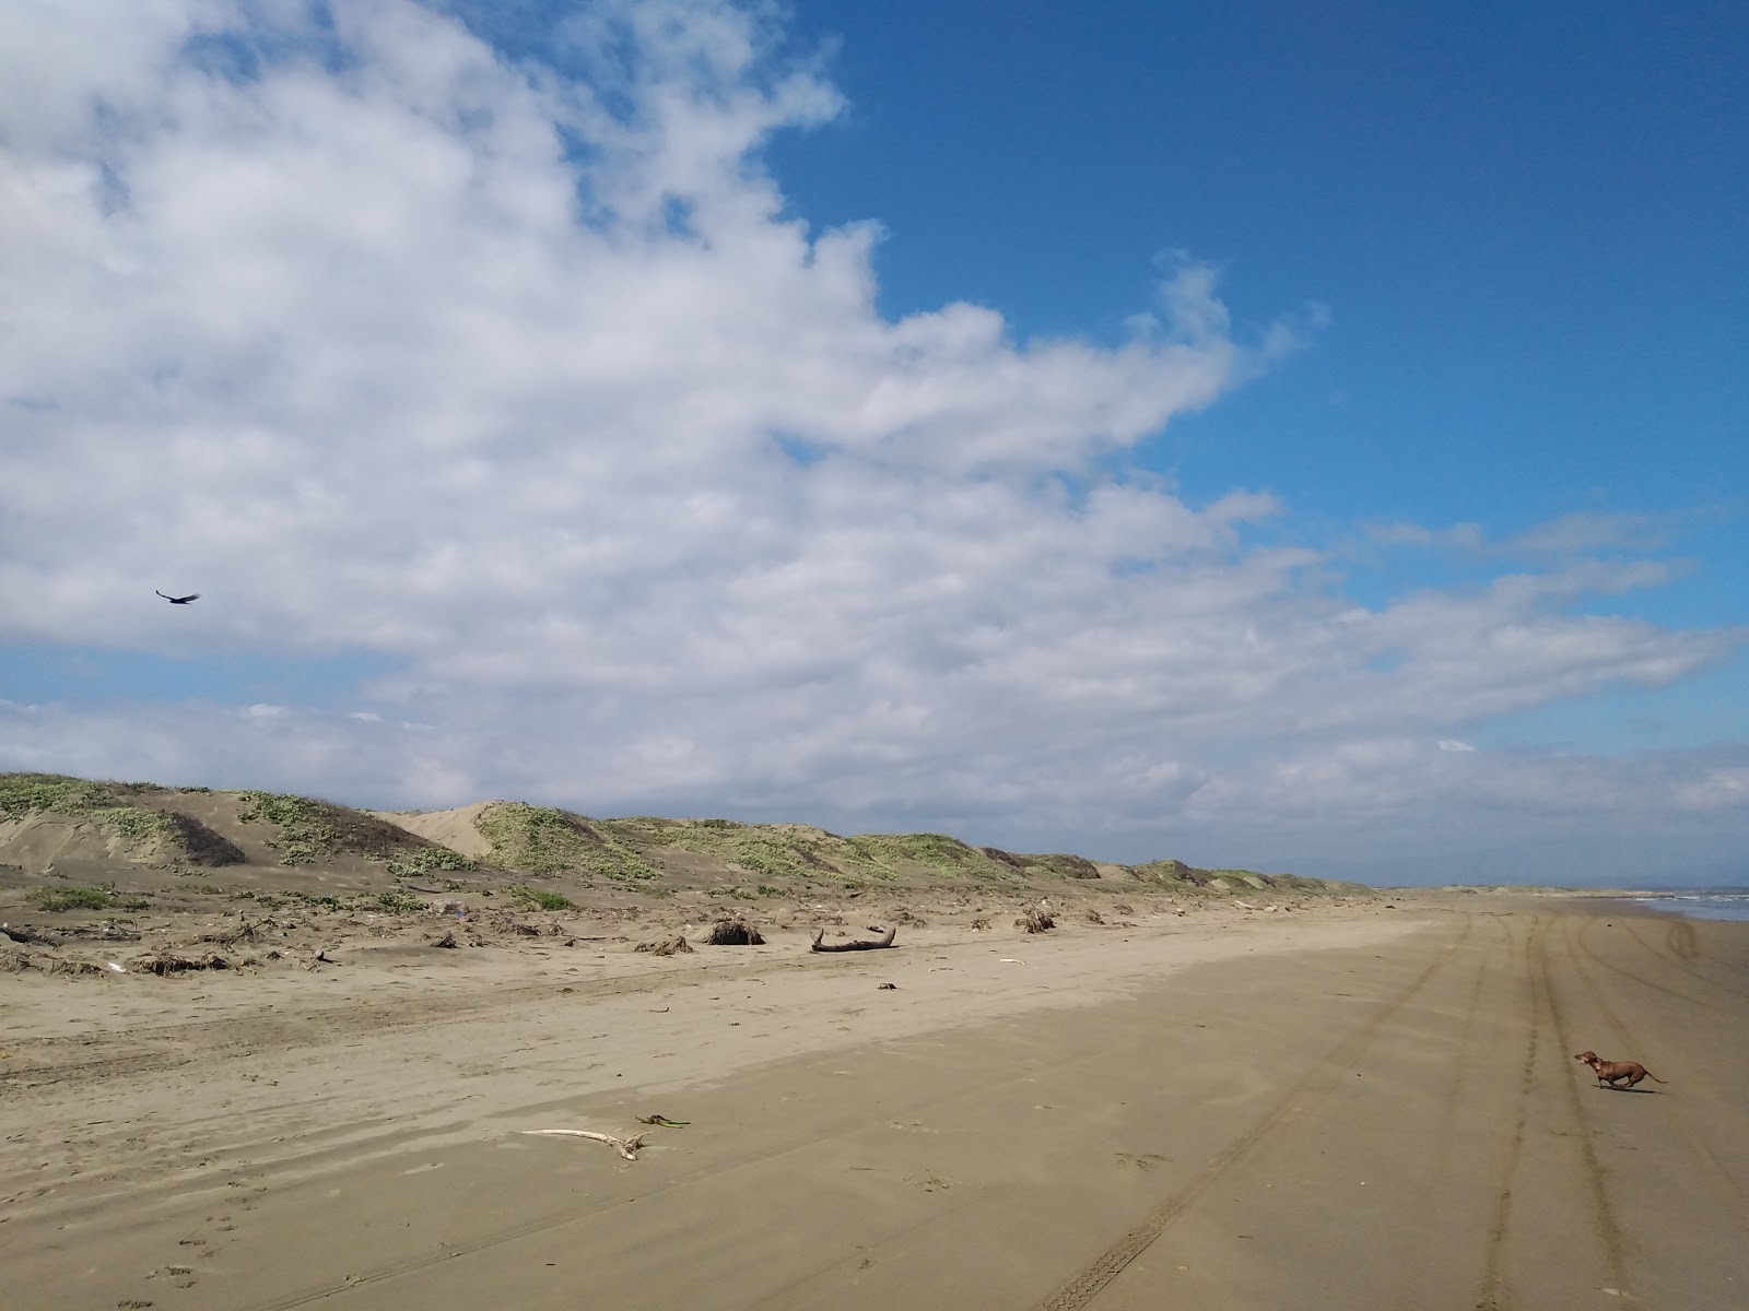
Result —
<svg viewBox="0 0 1749 1311"><path fill-rule="evenodd" d="M1740 1309L1744 928L1422 898L0 979L0 1306ZM691 1126L519 1133L638 1113Z"/></svg>

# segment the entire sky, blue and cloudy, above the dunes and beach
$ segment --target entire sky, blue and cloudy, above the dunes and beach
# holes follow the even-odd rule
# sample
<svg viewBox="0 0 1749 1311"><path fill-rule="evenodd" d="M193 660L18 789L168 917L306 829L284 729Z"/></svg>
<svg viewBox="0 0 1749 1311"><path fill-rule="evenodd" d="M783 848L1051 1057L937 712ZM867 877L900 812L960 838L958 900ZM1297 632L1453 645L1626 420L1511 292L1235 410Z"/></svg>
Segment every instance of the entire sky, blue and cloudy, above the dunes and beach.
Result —
<svg viewBox="0 0 1749 1311"><path fill-rule="evenodd" d="M1749 884L1746 61L5 5L0 769Z"/></svg>

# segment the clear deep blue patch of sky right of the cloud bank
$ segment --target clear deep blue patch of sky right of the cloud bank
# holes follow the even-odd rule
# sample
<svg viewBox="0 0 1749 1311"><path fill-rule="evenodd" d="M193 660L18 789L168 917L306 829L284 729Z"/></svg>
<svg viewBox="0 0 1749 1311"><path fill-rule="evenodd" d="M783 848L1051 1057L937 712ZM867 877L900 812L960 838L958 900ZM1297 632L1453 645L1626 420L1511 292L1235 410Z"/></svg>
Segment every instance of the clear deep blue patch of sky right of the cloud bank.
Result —
<svg viewBox="0 0 1749 1311"><path fill-rule="evenodd" d="M1184 248L1224 267L1238 322L1333 313L1149 444L1193 495L1492 537L1719 507L1714 605L1749 591L1742 7L798 14L840 40L852 108L773 166L798 212L888 224L888 311L962 295L1020 332L1112 336Z"/></svg>

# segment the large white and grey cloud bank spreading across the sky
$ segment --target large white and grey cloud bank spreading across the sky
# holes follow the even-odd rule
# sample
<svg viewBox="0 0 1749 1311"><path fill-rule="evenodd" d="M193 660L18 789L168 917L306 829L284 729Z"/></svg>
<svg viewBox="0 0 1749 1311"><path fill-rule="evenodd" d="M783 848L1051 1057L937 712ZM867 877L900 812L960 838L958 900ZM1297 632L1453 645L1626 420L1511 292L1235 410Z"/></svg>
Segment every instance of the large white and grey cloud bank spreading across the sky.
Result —
<svg viewBox="0 0 1749 1311"><path fill-rule="evenodd" d="M404 0L0 14L0 642L392 668L339 710L7 704L0 766L1098 848L1413 809L1492 760L1466 725L1735 650L1585 612L1655 559L1355 607L1263 540L1275 495L1125 460L1327 311L1245 336L1174 253L1112 346L887 320L878 222L810 229L761 163L841 110L764 17L558 40Z"/></svg>

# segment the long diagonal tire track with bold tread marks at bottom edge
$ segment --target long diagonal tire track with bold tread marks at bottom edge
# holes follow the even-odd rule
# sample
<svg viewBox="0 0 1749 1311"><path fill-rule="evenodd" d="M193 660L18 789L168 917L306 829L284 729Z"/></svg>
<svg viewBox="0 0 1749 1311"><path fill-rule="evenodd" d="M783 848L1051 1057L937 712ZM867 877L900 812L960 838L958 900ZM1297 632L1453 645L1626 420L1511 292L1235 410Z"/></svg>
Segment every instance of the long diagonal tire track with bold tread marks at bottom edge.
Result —
<svg viewBox="0 0 1749 1311"><path fill-rule="evenodd" d="M1223 1175L1252 1155L1258 1147L1261 1147L1282 1124L1287 1124L1301 1112L1310 1110L1313 1105L1327 1098L1334 1091L1336 1084L1341 1082L1341 1075L1348 1073L1359 1063L1359 1058L1371 1045L1373 1038L1378 1037L1378 1031L1410 1000L1413 1000L1422 988L1427 986L1434 974L1438 974L1452 954L1464 944L1471 928L1473 919L1464 919L1462 932L1439 949L1439 953L1427 963L1427 968L1424 968L1390 1002L1380 1007L1371 1019L1336 1044L1336 1047L1331 1049L1322 1061L1313 1065L1312 1070L1300 1079L1300 1082L1287 1089L1282 1099L1277 1101L1261 1120L1240 1134L1240 1138L1230 1143L1224 1150L1217 1152L1203 1171L1189 1182L1189 1185L1149 1211L1139 1225L1123 1234L1076 1278L1048 1297L1041 1304L1042 1311L1077 1311L1077 1308L1091 1302L1098 1297L1105 1285L1116 1280L1132 1260L1140 1257L1154 1243L1154 1239L1158 1239L1174 1220L1184 1215L1184 1211L1188 1211Z"/></svg>

